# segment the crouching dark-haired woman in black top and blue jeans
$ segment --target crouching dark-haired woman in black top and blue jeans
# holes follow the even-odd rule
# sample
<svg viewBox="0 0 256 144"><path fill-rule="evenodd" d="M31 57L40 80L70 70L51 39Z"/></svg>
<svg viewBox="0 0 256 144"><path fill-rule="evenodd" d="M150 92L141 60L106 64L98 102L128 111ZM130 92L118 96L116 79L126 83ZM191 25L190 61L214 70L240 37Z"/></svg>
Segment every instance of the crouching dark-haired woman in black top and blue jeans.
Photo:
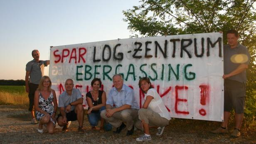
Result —
<svg viewBox="0 0 256 144"><path fill-rule="evenodd" d="M106 93L101 88L101 79L94 78L91 81L92 91L86 93L86 101L88 104L88 120L91 124L91 129L96 129L98 121L101 120L101 128L103 130L104 120L101 118L101 110L106 109Z"/></svg>

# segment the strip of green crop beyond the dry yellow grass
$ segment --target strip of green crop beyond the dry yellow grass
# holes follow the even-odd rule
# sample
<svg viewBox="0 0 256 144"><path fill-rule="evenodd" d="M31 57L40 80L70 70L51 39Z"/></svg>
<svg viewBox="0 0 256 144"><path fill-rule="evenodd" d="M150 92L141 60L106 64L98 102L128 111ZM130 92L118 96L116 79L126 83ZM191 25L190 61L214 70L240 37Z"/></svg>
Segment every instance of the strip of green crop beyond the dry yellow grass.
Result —
<svg viewBox="0 0 256 144"><path fill-rule="evenodd" d="M18 93L23 94L26 93L25 86L23 85L0 85L0 92L7 92L7 93Z"/></svg>

